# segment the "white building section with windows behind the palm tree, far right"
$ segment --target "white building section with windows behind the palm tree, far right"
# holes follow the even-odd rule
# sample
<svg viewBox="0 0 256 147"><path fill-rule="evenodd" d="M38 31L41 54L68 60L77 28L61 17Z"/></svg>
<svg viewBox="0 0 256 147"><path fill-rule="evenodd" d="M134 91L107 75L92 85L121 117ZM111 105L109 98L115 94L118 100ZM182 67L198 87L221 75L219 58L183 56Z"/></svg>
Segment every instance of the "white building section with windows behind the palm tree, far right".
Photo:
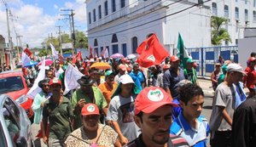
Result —
<svg viewBox="0 0 256 147"><path fill-rule="evenodd" d="M256 26L256 0L212 0L211 7L212 15L228 19L225 29L232 43L224 42L225 45L236 45L246 27Z"/></svg>

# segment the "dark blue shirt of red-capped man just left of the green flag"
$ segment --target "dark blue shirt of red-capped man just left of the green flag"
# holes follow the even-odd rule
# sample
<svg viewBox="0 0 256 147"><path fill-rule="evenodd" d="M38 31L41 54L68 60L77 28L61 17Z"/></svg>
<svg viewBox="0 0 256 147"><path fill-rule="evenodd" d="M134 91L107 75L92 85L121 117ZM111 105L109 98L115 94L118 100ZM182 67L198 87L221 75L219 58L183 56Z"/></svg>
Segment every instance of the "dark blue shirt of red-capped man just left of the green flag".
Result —
<svg viewBox="0 0 256 147"><path fill-rule="evenodd" d="M172 69L166 71L163 76L164 88L169 88L172 93L172 98L177 97L177 82L185 79L183 69L179 68L179 75Z"/></svg>

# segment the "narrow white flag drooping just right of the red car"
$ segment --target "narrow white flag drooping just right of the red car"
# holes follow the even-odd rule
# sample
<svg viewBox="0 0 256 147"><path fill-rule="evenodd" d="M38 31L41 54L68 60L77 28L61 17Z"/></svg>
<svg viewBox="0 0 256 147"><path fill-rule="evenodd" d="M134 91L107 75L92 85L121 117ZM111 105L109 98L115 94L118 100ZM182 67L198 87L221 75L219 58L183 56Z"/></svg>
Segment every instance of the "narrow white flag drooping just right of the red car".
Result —
<svg viewBox="0 0 256 147"><path fill-rule="evenodd" d="M38 87L38 82L44 80L45 77L45 59L43 59L43 63L41 65L41 70L38 73L38 77L36 78L32 88L26 93L26 96L30 99L34 99L38 93L42 91L41 88Z"/></svg>

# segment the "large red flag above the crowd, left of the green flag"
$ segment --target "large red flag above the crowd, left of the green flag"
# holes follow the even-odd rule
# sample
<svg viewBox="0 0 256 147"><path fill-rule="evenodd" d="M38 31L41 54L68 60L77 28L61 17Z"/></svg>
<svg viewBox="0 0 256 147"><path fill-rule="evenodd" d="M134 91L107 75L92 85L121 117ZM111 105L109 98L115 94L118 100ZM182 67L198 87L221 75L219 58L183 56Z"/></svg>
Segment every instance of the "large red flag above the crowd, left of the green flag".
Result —
<svg viewBox="0 0 256 147"><path fill-rule="evenodd" d="M170 55L160 44L155 34L140 44L137 48L137 54L140 54L137 63L145 68L160 65Z"/></svg>

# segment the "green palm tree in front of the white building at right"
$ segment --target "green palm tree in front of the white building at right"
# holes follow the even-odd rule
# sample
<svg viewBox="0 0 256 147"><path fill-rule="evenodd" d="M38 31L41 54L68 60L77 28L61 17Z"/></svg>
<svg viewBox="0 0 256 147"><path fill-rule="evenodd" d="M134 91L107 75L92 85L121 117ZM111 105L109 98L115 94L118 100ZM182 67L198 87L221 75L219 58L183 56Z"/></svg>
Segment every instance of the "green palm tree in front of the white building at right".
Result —
<svg viewBox="0 0 256 147"><path fill-rule="evenodd" d="M212 27L212 44L220 45L223 41L231 42L229 32L224 29L222 26L227 23L227 19L218 16L212 16L211 19Z"/></svg>

